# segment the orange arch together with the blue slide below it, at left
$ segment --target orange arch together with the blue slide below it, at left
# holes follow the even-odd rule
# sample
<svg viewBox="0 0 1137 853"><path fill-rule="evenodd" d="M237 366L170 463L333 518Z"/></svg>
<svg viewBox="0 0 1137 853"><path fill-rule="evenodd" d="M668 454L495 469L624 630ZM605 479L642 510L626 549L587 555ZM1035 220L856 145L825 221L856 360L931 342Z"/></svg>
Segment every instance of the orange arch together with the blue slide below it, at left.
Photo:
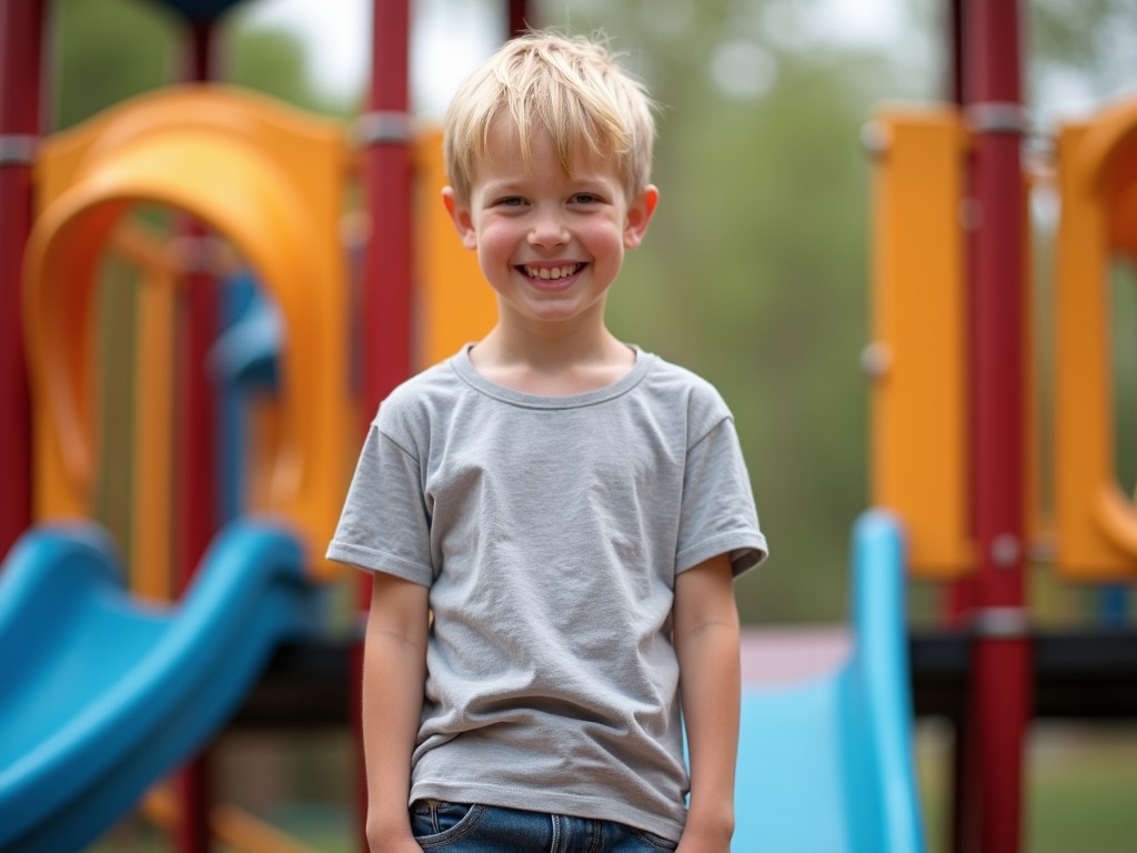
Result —
<svg viewBox="0 0 1137 853"><path fill-rule="evenodd" d="M288 345L274 354L280 431L263 510L284 527L266 544L249 522L231 525L165 612L113 588L115 561L90 533L43 528L20 540L0 619L0 671L15 686L0 738L6 850L74 848L105 829L208 743L282 639L313 629L304 603L312 581L330 575L322 544L349 472L346 159L334 124L205 86L121 105L41 149L23 299L36 516L92 517L93 482L107 475L93 450L92 291L124 214L150 202L210 223L275 297ZM169 283L151 278L142 288ZM165 411L155 399L140 408ZM134 470L168 472L152 461Z"/></svg>

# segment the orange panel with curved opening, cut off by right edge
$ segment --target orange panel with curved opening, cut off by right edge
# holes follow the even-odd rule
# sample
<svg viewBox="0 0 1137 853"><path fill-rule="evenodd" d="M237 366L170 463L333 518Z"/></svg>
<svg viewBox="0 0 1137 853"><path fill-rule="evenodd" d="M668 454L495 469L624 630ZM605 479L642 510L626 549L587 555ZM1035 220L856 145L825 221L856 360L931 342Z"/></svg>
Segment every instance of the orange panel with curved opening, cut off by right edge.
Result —
<svg viewBox="0 0 1137 853"><path fill-rule="evenodd" d="M1111 213L1137 185L1137 101L1059 138L1062 218L1055 274L1055 532L1057 570L1132 579L1137 512L1117 482L1110 365L1110 254L1127 249Z"/></svg>

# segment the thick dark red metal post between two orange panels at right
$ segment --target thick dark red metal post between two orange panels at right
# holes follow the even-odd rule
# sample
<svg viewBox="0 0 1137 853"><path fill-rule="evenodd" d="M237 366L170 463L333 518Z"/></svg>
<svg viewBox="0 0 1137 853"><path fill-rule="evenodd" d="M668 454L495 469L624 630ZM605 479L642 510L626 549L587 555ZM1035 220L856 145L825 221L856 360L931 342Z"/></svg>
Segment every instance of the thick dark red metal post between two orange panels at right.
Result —
<svg viewBox="0 0 1137 853"><path fill-rule="evenodd" d="M1022 847L1023 744L1031 717L1024 597L1023 175L1026 130L1016 0L968 0L964 109L973 133L971 457L977 554L957 843Z"/></svg>

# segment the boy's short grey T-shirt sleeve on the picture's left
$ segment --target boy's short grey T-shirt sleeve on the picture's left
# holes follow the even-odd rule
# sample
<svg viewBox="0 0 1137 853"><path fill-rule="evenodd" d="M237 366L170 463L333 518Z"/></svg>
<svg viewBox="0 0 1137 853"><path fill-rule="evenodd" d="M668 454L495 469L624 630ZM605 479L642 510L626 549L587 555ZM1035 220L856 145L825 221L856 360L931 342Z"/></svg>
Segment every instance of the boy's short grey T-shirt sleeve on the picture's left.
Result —
<svg viewBox="0 0 1137 853"><path fill-rule="evenodd" d="M430 527L418 461L372 424L327 558L430 586Z"/></svg>

